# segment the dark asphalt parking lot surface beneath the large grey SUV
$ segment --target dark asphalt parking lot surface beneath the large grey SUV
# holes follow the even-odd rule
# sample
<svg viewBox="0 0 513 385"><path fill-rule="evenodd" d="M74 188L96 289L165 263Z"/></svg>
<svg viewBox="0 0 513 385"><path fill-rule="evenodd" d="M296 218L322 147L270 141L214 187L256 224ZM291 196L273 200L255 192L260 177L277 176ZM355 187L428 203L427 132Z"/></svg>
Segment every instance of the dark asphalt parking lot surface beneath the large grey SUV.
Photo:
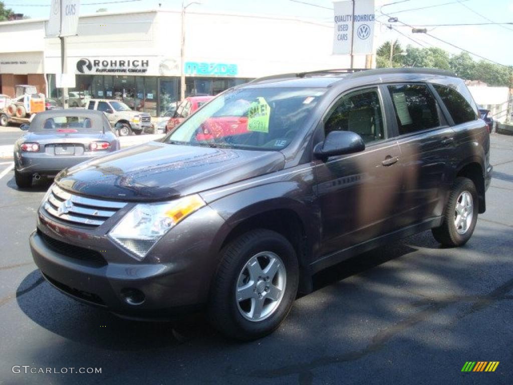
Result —
<svg viewBox="0 0 513 385"><path fill-rule="evenodd" d="M464 247L425 232L346 261L279 330L244 344L201 316L126 321L58 293L28 245L49 184L18 190L0 161L0 384L511 384L513 137L492 134L491 158L487 212ZM500 363L462 373L466 361Z"/></svg>

